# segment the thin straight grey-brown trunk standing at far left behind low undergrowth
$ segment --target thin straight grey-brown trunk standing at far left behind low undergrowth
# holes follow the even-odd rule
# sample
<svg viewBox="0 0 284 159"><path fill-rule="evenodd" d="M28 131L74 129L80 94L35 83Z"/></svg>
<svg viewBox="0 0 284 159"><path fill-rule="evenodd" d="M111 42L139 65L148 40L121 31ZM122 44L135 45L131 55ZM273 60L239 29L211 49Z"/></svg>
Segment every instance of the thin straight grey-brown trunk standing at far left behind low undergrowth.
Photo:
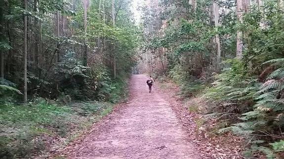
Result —
<svg viewBox="0 0 284 159"><path fill-rule="evenodd" d="M25 10L28 9L28 2L24 0ZM27 16L24 16L24 102L28 101L27 93Z"/></svg>

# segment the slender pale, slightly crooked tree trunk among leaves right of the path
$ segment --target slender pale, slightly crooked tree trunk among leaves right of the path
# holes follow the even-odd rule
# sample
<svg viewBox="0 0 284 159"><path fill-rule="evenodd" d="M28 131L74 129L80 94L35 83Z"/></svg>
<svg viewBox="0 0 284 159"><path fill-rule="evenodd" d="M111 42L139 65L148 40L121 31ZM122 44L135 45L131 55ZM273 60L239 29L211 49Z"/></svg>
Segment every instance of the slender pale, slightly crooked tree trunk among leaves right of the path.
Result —
<svg viewBox="0 0 284 159"><path fill-rule="evenodd" d="M218 31L219 24L219 6L216 1L213 1L213 14L214 14L214 23L215 23L215 31ZM215 42L217 45L217 66L221 62L221 44L219 34L215 34Z"/></svg>

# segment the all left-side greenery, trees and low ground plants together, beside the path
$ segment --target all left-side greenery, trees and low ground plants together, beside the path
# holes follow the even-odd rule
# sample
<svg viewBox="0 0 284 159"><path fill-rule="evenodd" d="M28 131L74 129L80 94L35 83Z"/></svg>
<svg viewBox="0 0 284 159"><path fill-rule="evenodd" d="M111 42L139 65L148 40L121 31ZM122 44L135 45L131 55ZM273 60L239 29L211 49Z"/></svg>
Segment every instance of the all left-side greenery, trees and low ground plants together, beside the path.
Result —
<svg viewBox="0 0 284 159"><path fill-rule="evenodd" d="M130 6L0 0L0 158L66 144L127 95L140 43Z"/></svg>

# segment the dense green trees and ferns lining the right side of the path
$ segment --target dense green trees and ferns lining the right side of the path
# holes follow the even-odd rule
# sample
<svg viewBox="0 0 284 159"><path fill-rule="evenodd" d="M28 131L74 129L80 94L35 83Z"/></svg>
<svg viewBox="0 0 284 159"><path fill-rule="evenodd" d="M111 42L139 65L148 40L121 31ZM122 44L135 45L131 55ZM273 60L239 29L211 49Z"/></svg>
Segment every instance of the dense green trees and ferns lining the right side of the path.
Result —
<svg viewBox="0 0 284 159"><path fill-rule="evenodd" d="M280 157L284 151L283 1L250 1L243 4L241 19L236 13L239 2L161 0L156 14L149 14L153 8L146 7L143 23L148 25L147 16L160 23L153 24L154 33L145 46L154 62L145 63L156 75L170 76L180 85L181 95L203 95L214 101L216 106L208 108L206 117L226 123L219 132L245 136L246 146L251 146L245 151L247 157L259 152ZM238 50L239 32L242 50Z"/></svg>

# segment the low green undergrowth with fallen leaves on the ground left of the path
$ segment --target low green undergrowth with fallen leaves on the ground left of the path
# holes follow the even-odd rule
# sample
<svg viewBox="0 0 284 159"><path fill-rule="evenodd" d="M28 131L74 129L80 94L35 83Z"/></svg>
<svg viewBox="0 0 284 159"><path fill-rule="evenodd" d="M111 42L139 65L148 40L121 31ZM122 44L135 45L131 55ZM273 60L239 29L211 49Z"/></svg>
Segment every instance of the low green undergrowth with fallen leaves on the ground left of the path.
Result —
<svg viewBox="0 0 284 159"><path fill-rule="evenodd" d="M75 132L90 127L108 114L113 104L84 102L57 105L38 99L28 105L0 105L0 158L30 158L50 149L56 138L74 137ZM71 140L71 139L70 139ZM69 140L69 141L70 141Z"/></svg>

